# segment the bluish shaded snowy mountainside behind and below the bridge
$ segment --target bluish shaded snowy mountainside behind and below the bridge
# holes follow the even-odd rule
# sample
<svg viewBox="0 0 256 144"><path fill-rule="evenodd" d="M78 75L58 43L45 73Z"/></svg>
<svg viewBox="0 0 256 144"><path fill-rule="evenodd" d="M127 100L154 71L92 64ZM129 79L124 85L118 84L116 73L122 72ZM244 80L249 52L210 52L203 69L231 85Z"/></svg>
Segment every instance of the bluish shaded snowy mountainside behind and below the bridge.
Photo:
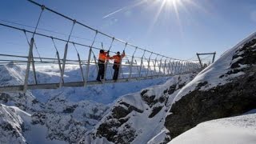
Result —
<svg viewBox="0 0 256 144"><path fill-rule="evenodd" d="M93 66L91 68L90 79L94 79L95 68ZM25 70L26 66L16 66L13 63L0 66L0 72L4 75L1 77L0 85L22 85ZM37 66L37 70L39 83L59 81L57 65ZM80 81L79 74L78 66L66 66L66 82ZM63 87L58 90L28 90L25 94L1 93L0 103L17 106L30 114L30 118L26 118L30 119L26 121L26 126L32 128L18 131L24 142L34 143L37 142L34 138L38 138L42 143L77 143L94 128L118 97L161 84L166 82L166 79L156 78L102 86ZM32 77L29 78L29 82L34 82ZM20 123L21 126L25 126L23 124L24 122ZM40 137L35 134L40 134Z"/></svg>

